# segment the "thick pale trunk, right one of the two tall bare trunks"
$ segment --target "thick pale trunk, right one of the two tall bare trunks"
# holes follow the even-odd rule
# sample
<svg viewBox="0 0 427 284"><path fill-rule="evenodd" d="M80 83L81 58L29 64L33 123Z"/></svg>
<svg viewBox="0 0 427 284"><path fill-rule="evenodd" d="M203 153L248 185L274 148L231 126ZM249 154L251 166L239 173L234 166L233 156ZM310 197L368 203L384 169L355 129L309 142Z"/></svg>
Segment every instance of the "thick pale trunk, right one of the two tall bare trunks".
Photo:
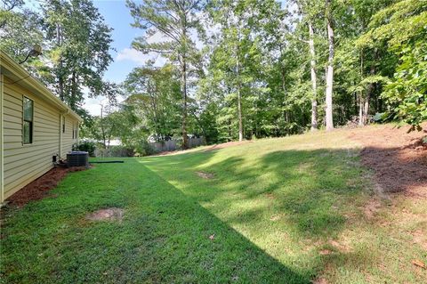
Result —
<svg viewBox="0 0 427 284"><path fill-rule="evenodd" d="M326 74L326 130L334 129L334 118L332 116L332 93L334 89L334 28L330 11L330 1L331 0L326 0L327 41L329 44Z"/></svg>

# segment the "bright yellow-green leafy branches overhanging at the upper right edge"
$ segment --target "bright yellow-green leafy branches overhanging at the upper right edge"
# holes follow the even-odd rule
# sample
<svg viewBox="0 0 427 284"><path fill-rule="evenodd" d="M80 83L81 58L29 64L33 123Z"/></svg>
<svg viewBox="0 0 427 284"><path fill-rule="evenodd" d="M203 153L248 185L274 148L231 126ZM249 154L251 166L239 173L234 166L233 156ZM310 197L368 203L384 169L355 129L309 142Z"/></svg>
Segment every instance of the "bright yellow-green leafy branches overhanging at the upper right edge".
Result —
<svg viewBox="0 0 427 284"><path fill-rule="evenodd" d="M360 46L388 45L399 64L385 86L387 118L421 130L427 119L427 2L402 0L377 12L371 28L357 41Z"/></svg>

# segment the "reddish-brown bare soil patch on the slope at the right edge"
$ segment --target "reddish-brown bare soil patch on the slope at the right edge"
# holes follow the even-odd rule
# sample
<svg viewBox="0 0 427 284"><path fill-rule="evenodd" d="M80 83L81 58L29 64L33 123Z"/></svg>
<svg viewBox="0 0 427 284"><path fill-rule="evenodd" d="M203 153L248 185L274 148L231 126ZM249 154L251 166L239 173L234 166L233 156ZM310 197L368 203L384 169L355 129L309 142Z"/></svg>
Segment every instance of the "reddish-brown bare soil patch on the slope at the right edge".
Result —
<svg viewBox="0 0 427 284"><path fill-rule="evenodd" d="M427 128L427 124L423 125ZM375 172L383 192L405 192L427 198L427 132L407 133L409 127L367 127L350 132L360 142L362 163Z"/></svg>

